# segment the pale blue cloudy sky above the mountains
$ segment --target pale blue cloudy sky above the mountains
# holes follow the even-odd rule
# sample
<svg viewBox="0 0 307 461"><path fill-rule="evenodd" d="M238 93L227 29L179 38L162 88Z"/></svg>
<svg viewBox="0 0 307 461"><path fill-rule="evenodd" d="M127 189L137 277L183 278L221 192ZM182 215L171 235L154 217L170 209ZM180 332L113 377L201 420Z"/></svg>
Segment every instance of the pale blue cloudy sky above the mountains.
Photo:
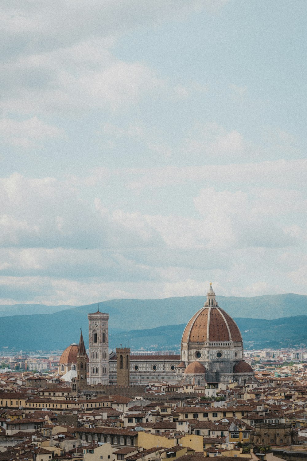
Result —
<svg viewBox="0 0 307 461"><path fill-rule="evenodd" d="M0 304L307 294L307 2L0 11Z"/></svg>

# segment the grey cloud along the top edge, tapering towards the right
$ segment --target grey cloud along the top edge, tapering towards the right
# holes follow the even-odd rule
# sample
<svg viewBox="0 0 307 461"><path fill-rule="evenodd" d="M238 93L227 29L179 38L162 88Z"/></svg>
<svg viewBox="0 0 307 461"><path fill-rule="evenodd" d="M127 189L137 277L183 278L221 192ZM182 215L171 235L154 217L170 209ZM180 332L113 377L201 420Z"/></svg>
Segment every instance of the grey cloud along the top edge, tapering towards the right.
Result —
<svg viewBox="0 0 307 461"><path fill-rule="evenodd" d="M27 41L29 49L65 47L95 35L122 34L144 25L185 18L203 8L216 13L226 0L47 0L2 2L2 30L11 41ZM37 36L40 40L37 40ZM27 49L27 48L26 48Z"/></svg>

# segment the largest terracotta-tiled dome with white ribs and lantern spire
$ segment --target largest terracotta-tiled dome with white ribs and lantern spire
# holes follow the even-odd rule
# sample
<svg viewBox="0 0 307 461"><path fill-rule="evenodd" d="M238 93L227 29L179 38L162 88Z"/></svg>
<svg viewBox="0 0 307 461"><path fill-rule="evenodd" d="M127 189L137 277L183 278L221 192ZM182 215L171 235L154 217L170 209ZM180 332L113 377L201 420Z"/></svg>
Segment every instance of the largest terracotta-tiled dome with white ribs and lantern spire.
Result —
<svg viewBox="0 0 307 461"><path fill-rule="evenodd" d="M190 319L182 335L183 343L205 343L233 341L242 343L242 336L236 322L215 301L210 284L207 301Z"/></svg>

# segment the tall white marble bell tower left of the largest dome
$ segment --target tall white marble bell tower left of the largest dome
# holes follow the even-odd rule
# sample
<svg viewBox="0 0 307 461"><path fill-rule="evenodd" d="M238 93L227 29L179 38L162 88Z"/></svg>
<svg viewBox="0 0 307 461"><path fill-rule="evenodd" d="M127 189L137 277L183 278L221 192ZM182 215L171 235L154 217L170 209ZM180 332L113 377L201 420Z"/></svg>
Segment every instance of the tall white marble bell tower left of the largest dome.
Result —
<svg viewBox="0 0 307 461"><path fill-rule="evenodd" d="M109 314L88 314L89 384L109 384Z"/></svg>

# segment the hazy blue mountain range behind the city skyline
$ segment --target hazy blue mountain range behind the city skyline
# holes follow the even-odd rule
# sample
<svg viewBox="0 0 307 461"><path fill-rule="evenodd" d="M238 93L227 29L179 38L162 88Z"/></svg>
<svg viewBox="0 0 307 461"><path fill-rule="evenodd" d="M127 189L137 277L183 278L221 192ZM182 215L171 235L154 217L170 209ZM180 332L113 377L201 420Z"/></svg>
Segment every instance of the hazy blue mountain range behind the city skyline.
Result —
<svg viewBox="0 0 307 461"><path fill-rule="evenodd" d="M203 307L205 299L205 296L184 296L157 300L115 299L99 303L100 311L110 313L110 347L122 343L133 349L179 349L186 323ZM268 342L272 343L271 347L277 347L274 342L279 347L286 347L286 344L306 342L307 296L217 296L217 301L237 319L245 347L260 348L265 344L268 347ZM80 328L88 343L87 313L96 310L97 304L78 307L0 306L0 351L3 347L65 349L70 343L78 342Z"/></svg>

